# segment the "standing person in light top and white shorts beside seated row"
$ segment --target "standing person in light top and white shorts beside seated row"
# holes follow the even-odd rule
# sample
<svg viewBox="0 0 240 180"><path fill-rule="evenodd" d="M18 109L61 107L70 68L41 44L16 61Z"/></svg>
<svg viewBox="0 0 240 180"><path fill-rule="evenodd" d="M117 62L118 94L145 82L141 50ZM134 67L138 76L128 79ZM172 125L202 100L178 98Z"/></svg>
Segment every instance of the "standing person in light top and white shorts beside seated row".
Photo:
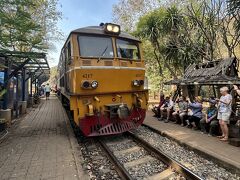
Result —
<svg viewBox="0 0 240 180"><path fill-rule="evenodd" d="M218 120L222 130L222 135L218 136L221 141L228 140L228 124L232 112L232 95L228 94L228 87L220 89L221 97L218 101Z"/></svg>

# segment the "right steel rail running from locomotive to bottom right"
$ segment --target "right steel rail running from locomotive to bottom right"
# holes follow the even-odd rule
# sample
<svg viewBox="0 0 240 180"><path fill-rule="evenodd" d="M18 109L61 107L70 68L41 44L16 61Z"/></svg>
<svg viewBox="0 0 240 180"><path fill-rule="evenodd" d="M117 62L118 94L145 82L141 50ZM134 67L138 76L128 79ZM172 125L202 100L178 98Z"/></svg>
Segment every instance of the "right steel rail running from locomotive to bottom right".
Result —
<svg viewBox="0 0 240 180"><path fill-rule="evenodd" d="M203 180L200 176L192 172L187 167L183 166L181 163L179 163L177 160L171 158L161 150L153 147L151 144L149 144L147 141L143 140L142 138L138 137L137 135L133 134L132 132L126 132L127 135L133 138L133 140L140 145L142 145L147 151L153 152L155 157L159 160L163 161L170 167L173 167L176 172L179 174L182 174L185 178L191 179L191 180Z"/></svg>

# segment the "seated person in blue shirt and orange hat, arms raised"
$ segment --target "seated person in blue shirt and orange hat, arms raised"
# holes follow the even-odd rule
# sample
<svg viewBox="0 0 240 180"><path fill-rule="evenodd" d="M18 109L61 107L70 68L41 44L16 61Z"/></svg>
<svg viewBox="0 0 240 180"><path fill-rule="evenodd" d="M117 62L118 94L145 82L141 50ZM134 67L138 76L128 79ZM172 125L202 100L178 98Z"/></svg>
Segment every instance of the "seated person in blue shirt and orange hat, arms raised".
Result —
<svg viewBox="0 0 240 180"><path fill-rule="evenodd" d="M189 98L187 101L189 102L188 108L192 111L192 115L188 119L188 127L192 126L194 130L197 130L199 122L202 119L202 97L195 97L194 102L191 102Z"/></svg>

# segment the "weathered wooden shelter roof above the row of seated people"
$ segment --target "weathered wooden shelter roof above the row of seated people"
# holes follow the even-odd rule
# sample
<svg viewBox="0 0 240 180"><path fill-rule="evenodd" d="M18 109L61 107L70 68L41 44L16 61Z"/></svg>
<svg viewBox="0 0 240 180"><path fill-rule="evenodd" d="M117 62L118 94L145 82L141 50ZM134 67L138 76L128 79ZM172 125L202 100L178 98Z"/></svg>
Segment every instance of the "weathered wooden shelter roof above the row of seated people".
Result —
<svg viewBox="0 0 240 180"><path fill-rule="evenodd" d="M238 77L238 60L234 58L219 59L187 67L182 79L166 82L168 85L217 85L240 84Z"/></svg>

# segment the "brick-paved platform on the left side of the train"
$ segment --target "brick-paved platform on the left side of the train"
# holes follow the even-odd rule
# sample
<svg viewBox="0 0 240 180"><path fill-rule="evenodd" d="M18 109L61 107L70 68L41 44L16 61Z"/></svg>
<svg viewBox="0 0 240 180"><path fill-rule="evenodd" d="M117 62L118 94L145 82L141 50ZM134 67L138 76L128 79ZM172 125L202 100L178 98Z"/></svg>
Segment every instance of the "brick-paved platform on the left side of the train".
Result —
<svg viewBox="0 0 240 180"><path fill-rule="evenodd" d="M0 141L0 179L88 179L68 117L55 96L28 110Z"/></svg>

